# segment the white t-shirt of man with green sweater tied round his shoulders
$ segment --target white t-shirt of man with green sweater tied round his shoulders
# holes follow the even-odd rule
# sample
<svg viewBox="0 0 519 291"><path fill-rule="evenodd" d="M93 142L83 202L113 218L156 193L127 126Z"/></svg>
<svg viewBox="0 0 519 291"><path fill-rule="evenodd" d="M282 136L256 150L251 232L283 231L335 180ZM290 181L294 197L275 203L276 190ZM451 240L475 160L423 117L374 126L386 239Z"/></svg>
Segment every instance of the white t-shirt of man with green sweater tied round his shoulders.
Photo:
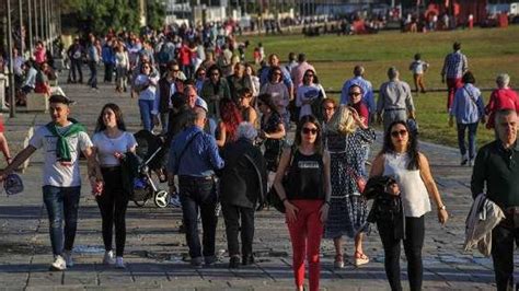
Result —
<svg viewBox="0 0 519 291"><path fill-rule="evenodd" d="M69 130L72 124L66 127L56 127L62 135ZM43 167L43 185L56 187L76 187L81 186L81 175L79 173L79 152L92 147L86 132L78 132L66 138L70 148L70 163L58 162L56 158L56 143L58 137L55 137L45 126L39 127L28 141L28 144L45 150L45 162Z"/></svg>

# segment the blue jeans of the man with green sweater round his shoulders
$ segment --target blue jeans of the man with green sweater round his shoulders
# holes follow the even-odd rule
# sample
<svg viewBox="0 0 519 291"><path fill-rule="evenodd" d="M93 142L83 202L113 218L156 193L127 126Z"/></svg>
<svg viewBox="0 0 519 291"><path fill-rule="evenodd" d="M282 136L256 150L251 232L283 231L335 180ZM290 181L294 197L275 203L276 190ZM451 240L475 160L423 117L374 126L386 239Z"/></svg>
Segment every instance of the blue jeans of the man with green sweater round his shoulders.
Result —
<svg viewBox="0 0 519 291"><path fill-rule="evenodd" d="M76 229L78 225L78 209L81 187L44 186L43 196L47 208L50 244L54 255L64 251L72 251ZM64 221L65 219L65 230ZM65 236L65 240L64 240Z"/></svg>

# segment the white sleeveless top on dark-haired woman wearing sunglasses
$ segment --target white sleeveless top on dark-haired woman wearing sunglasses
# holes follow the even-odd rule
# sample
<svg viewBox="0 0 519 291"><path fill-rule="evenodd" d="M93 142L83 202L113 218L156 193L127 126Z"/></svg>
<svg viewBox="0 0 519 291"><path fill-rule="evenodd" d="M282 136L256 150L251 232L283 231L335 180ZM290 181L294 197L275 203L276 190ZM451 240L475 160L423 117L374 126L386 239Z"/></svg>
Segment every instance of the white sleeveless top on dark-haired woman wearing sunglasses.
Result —
<svg viewBox="0 0 519 291"><path fill-rule="evenodd" d="M407 170L407 153L384 154L384 176L393 176L399 184L404 216L419 218L430 211L430 200L419 170Z"/></svg>

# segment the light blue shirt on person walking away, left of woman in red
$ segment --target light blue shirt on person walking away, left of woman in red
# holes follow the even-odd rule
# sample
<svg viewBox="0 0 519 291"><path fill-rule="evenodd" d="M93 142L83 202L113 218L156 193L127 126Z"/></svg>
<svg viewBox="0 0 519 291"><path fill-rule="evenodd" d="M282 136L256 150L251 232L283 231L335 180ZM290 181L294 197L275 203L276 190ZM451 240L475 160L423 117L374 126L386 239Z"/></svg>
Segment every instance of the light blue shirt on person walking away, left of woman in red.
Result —
<svg viewBox="0 0 519 291"><path fill-rule="evenodd" d="M449 114L455 117L458 124L468 125L480 121L484 115L481 91L470 83L458 89Z"/></svg>

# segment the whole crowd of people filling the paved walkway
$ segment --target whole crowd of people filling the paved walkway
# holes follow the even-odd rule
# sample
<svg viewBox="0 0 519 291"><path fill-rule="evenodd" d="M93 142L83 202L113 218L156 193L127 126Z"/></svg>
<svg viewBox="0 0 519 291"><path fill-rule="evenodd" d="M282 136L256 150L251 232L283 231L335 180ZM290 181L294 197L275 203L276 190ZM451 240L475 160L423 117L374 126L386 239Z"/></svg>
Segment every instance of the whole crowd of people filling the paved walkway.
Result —
<svg viewBox="0 0 519 291"><path fill-rule="evenodd" d="M369 232L368 220L373 211L391 288L402 289L401 241L407 257L411 289L422 288L424 216L431 211L430 199L440 223L445 224L449 214L429 162L418 150L412 90L400 80L397 68L388 69L389 80L381 84L376 102L365 68L356 66L337 103L326 97L316 70L304 54L290 55L288 63L281 63L279 56L272 54L258 61L261 68L256 73L244 58L246 45L239 44L232 35L221 37L211 27L149 32L142 38L111 32L104 39L94 35L86 39L85 49L77 38L67 50L71 61L68 81L83 81L81 67L86 60L91 70L88 83L97 90L97 62L102 61L104 81L111 83L115 74L116 92L129 91L129 95L138 98L143 130L164 137L166 163L165 177L161 179L168 182L171 194L178 195L194 267L210 266L218 259L215 237L219 205L226 224L229 267L253 264L254 212L266 203L268 188L274 187L286 210L298 290L303 290L305 260L310 290L319 290L322 238L333 240L334 267L344 268L345 236L355 243L354 264L369 263L362 238ZM34 61L21 63L38 63L39 70L45 70L42 49L45 48L36 49ZM449 89L450 123L453 125L455 118L458 126L461 164L474 165L474 196L483 191L486 182L489 199L506 209L515 207L514 197L518 193L512 176L519 171L519 162L504 162L498 156L509 156L510 161L519 159L514 155L519 150L516 146L518 96L509 88L510 78L499 74L498 89L483 107L474 75L460 51L461 44L455 43L453 49L445 60L441 77ZM419 86L423 93L420 81L426 68L420 56L415 56L410 68L415 74L416 91ZM27 75L36 74L38 79L38 73L33 66L28 67ZM28 90L24 88L21 86L22 91ZM95 133L90 138L84 126L70 117L72 101L65 94L48 94L51 121L36 130L28 146L9 160L0 178L12 173L34 151L44 149L43 196L55 256L51 268L65 270L73 266L81 187L79 154L82 152L102 216L103 263L125 268L125 216L131 190L125 187L123 179L128 177L127 168L135 165L137 141L126 130L123 113L116 104L104 105ZM492 124L496 128L496 141L476 155L476 127L486 116L488 120L496 120ZM376 123L383 124L383 148L368 173L366 164L376 139ZM469 155L464 146L465 129L469 129ZM290 131L295 131L291 146L288 144ZM2 148L2 151L10 159L9 150ZM487 170L493 166L506 175L496 176ZM275 174L274 179L269 174ZM394 179L381 191L400 201L400 212L395 212L394 219L381 219L383 207L369 211L362 196L366 181L380 176ZM501 199L503 195L508 196ZM515 212L506 213L512 217ZM201 243L198 216L203 225ZM514 224L514 219L507 219ZM405 225L403 229L399 226L400 221ZM511 263L503 257L512 255L510 237L516 234L506 225L495 232L496 245L509 246L493 251L500 288L511 278Z"/></svg>

